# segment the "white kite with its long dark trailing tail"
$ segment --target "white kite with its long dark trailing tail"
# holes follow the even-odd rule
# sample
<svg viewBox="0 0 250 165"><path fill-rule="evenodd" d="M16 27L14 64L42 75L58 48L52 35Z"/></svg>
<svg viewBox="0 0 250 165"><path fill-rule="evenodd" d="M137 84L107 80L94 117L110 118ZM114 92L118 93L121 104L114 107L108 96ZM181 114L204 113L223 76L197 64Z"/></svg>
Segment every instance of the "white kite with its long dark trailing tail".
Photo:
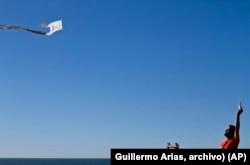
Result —
<svg viewBox="0 0 250 165"><path fill-rule="evenodd" d="M19 30L25 30L28 32L36 33L36 34L49 36L49 35L55 33L56 31L63 29L62 20L54 21L54 22L51 22L49 24L42 24L41 26L49 28L50 31L44 32L44 31L29 29L29 28L22 27L22 26L10 25L10 24L0 24L0 30L2 30L2 29L19 29Z"/></svg>

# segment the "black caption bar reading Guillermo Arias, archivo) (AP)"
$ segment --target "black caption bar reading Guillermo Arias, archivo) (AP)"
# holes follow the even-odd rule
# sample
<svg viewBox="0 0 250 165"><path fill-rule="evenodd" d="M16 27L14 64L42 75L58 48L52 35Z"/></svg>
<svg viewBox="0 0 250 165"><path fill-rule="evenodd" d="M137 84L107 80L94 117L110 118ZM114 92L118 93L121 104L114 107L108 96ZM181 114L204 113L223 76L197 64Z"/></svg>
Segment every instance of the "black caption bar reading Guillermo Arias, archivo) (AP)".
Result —
<svg viewBox="0 0 250 165"><path fill-rule="evenodd" d="M111 149L111 165L249 165L250 149ZM142 162L141 162L142 161Z"/></svg>

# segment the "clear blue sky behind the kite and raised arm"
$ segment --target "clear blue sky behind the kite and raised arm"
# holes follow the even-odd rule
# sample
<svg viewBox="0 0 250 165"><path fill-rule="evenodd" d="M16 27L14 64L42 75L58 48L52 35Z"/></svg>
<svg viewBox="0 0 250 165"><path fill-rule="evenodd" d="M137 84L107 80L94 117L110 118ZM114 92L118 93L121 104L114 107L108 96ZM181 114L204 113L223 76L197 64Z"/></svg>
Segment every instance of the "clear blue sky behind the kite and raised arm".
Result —
<svg viewBox="0 0 250 165"><path fill-rule="evenodd" d="M250 147L250 1L2 0L0 157L218 148L242 101Z"/></svg>

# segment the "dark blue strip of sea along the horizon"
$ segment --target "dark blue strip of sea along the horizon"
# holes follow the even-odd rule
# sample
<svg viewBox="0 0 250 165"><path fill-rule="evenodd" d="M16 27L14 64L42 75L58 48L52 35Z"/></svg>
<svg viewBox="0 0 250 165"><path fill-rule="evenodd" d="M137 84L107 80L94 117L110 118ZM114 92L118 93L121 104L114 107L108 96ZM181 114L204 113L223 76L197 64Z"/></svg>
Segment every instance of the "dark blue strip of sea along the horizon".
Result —
<svg viewBox="0 0 250 165"><path fill-rule="evenodd" d="M110 159L0 158L0 165L110 165Z"/></svg>

